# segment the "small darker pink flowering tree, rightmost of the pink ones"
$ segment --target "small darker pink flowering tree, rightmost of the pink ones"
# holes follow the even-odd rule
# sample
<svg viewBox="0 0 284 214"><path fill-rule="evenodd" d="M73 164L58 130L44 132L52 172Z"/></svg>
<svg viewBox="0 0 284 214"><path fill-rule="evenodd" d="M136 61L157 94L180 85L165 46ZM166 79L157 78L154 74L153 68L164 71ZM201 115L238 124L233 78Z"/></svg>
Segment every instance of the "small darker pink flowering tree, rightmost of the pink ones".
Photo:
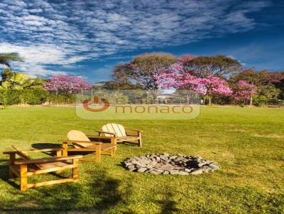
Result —
<svg viewBox="0 0 284 214"><path fill-rule="evenodd" d="M250 101L249 106L252 105L253 95L257 94L256 86L249 84L244 80L239 80L236 84L236 90L234 90L234 100L246 104L246 101Z"/></svg>

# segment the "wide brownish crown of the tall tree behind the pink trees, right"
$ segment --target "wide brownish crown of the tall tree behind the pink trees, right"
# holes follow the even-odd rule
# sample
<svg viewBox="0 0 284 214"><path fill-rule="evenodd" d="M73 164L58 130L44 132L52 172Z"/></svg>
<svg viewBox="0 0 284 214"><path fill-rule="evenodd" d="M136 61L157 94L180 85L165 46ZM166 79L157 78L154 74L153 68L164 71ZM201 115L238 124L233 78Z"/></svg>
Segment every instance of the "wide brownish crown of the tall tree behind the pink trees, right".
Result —
<svg viewBox="0 0 284 214"><path fill-rule="evenodd" d="M213 57L184 57L181 59L183 67L197 77L226 76L241 70L238 60L223 55Z"/></svg>

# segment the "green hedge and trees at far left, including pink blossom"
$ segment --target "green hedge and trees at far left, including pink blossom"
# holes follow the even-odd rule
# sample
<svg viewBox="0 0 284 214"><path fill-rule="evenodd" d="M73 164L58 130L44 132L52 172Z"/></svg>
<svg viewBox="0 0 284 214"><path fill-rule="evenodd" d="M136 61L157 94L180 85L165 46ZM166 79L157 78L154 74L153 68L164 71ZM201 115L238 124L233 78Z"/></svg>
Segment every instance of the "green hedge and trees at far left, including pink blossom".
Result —
<svg viewBox="0 0 284 214"><path fill-rule="evenodd" d="M54 78L56 84L52 81ZM50 79L31 78L28 74L12 72L10 68L3 69L0 81L0 105L40 105L43 103L62 105L75 103L75 92L83 88L80 89L73 82L74 79L79 84L84 82L79 77L69 76L60 77L59 80L58 77ZM65 81L69 82L70 89L62 88L62 86L66 86ZM48 84L53 84L55 89L49 89ZM74 91L75 87L77 91Z"/></svg>

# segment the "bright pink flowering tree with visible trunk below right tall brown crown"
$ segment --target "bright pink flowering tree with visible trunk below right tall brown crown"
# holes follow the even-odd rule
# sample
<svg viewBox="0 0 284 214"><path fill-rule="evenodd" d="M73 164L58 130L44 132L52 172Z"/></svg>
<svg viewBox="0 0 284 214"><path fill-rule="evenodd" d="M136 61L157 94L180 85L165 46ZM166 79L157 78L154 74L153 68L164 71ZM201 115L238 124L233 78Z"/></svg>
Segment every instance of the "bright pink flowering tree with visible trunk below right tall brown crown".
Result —
<svg viewBox="0 0 284 214"><path fill-rule="evenodd" d="M232 94L231 89L225 79L220 77L209 76L202 78L200 81L200 94L208 97L209 105L212 104L212 96L219 94L223 96L230 96Z"/></svg>

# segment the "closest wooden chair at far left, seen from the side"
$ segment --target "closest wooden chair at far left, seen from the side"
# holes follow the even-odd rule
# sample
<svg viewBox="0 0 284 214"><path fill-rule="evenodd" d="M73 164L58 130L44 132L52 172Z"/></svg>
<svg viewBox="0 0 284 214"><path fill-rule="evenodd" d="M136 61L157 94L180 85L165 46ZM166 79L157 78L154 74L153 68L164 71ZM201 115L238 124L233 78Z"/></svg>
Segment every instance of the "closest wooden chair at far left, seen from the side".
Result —
<svg viewBox="0 0 284 214"><path fill-rule="evenodd" d="M61 184L65 182L75 182L78 180L78 163L82 155L73 155L69 157L62 157L62 149L43 149L43 150L28 150L21 151L12 145L16 151L3 152L3 154L10 155L9 164L9 179L18 176L21 179L20 189L26 191L27 188L45 186L50 184ZM32 152L51 152L55 151L57 157L46 157L39 159L31 159L26 153ZM21 159L16 159L16 154ZM35 174L43 174L51 171L62 171L63 169L72 169L72 178L59 179L53 181L43 181L33 184L28 184L28 176Z"/></svg>

